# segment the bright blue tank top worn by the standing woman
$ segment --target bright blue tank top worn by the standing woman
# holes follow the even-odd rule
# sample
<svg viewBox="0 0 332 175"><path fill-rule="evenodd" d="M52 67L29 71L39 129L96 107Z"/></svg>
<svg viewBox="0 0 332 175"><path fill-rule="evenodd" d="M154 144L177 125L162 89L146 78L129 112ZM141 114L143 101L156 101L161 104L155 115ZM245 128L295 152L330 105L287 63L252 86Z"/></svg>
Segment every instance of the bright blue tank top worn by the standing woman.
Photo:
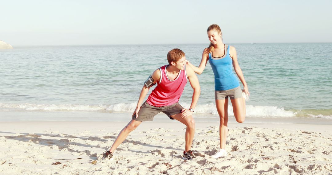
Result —
<svg viewBox="0 0 332 175"><path fill-rule="evenodd" d="M214 90L228 90L240 86L239 80L233 73L233 60L229 55L229 46L224 58L215 59L210 52L208 61L214 73Z"/></svg>

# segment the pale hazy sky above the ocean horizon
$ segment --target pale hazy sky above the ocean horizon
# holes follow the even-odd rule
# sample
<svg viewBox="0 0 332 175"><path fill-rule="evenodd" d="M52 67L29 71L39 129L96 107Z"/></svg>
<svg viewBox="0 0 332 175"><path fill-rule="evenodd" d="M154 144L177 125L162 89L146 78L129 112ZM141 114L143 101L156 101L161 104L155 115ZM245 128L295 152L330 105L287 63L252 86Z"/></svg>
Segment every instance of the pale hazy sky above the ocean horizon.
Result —
<svg viewBox="0 0 332 175"><path fill-rule="evenodd" d="M1 1L0 40L13 46L332 42L331 0Z"/></svg>

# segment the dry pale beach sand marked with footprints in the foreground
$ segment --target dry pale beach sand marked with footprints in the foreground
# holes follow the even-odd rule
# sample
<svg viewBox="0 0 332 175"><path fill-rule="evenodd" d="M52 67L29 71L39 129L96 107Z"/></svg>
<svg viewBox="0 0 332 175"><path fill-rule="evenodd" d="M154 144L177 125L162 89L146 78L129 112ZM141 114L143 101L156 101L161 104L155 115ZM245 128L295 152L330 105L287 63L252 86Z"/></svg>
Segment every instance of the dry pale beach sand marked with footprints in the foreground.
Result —
<svg viewBox="0 0 332 175"><path fill-rule="evenodd" d="M0 122L0 174L332 174L331 125L197 123L193 161L181 159L185 126L143 122L101 160L123 122Z"/></svg>

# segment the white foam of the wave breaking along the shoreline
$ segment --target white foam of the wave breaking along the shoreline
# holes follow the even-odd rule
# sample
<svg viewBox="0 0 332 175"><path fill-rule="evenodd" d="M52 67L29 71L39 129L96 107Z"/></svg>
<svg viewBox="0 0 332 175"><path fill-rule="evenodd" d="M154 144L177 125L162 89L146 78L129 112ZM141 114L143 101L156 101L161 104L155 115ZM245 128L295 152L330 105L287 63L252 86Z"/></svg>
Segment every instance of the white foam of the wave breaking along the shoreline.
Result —
<svg viewBox="0 0 332 175"><path fill-rule="evenodd" d="M11 104L0 103L0 111L11 110L29 110L29 111L105 111L116 113L131 113L135 110L137 103L118 103L112 105L81 105L81 104ZM189 108L190 104L181 103L185 108ZM295 117L299 116L299 110L285 110L282 107L277 106L253 106L246 105L246 116L248 117ZM214 103L199 104L195 108L196 114L213 114L218 115L216 106ZM228 115L234 116L233 107L228 106ZM315 118L332 119L331 115L322 114L305 114L303 116L310 116Z"/></svg>

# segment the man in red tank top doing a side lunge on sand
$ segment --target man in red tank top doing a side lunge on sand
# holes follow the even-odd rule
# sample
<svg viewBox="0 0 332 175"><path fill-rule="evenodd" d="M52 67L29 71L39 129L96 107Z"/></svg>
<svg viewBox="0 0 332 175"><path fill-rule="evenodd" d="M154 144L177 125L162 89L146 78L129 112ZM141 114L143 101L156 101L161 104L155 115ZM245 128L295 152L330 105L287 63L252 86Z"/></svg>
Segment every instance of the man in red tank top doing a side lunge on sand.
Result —
<svg viewBox="0 0 332 175"><path fill-rule="evenodd" d="M192 114L201 93L201 87L194 70L190 66L186 67L186 57L182 50L172 49L167 54L167 60L169 65L155 70L144 83L136 109L132 114L132 120L119 133L111 149L103 152L102 159L113 160L114 150L126 139L129 133L143 121L152 121L153 117L160 112L187 126L183 159L192 160L195 158L194 152L190 150L195 134L195 121ZM194 93L190 108L185 109L178 101L188 80ZM149 88L156 83L158 83L157 87L152 90L147 100L140 106Z"/></svg>

